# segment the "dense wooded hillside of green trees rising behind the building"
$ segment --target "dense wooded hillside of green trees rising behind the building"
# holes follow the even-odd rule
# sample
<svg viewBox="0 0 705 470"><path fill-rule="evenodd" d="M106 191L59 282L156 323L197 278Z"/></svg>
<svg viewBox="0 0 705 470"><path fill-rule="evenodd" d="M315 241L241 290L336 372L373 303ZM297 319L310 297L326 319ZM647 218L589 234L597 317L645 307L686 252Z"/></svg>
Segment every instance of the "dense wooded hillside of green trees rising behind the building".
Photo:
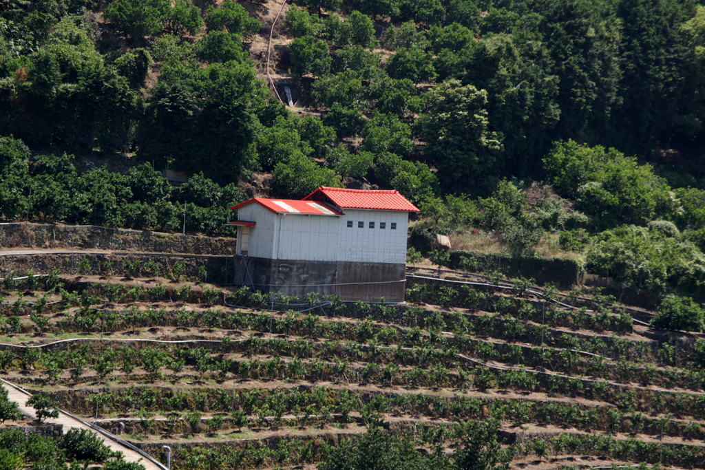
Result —
<svg viewBox="0 0 705 470"><path fill-rule="evenodd" d="M394 188L412 255L702 299L704 64L689 0L2 0L0 217L219 235L253 195Z"/></svg>

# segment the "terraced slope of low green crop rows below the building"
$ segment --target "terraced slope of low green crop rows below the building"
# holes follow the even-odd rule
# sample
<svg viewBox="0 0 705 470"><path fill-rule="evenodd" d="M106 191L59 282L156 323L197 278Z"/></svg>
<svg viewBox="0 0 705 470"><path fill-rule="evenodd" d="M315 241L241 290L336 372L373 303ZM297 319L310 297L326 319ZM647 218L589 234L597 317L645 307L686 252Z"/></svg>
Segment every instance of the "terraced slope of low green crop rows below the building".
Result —
<svg viewBox="0 0 705 470"><path fill-rule="evenodd" d="M332 468L380 429L436 466L705 468L697 335L601 295L444 276L409 278L405 307L6 276L0 367L178 470Z"/></svg>

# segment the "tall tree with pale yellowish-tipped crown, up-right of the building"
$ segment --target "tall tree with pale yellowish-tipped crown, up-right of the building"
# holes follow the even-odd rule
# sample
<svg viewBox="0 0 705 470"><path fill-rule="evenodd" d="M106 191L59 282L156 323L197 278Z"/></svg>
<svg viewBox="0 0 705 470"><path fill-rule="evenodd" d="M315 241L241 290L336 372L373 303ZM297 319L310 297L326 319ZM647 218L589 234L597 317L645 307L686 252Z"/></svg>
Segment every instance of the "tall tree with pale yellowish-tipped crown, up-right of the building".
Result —
<svg viewBox="0 0 705 470"><path fill-rule="evenodd" d="M499 136L489 131L487 93L448 80L429 92L419 129L446 189L487 193L496 184Z"/></svg>

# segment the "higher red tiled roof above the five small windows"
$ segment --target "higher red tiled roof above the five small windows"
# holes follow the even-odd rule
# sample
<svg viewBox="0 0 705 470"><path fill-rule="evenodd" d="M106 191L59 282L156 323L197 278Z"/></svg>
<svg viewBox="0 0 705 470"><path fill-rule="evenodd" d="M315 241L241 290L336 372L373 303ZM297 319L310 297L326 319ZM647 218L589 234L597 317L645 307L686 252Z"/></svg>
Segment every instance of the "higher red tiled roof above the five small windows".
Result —
<svg viewBox="0 0 705 470"><path fill-rule="evenodd" d="M376 209L378 211L409 211L419 209L397 190L348 190L343 187L321 186L304 200L330 201L341 209Z"/></svg>

